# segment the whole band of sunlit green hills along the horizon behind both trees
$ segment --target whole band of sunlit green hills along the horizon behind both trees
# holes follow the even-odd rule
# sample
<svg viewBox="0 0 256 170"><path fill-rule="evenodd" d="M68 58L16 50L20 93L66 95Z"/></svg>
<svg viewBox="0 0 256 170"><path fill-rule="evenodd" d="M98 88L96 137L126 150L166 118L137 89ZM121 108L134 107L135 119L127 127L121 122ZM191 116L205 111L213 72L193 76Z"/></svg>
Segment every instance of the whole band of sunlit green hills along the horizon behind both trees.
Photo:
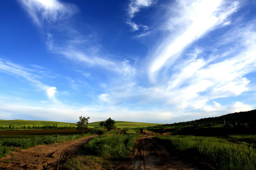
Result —
<svg viewBox="0 0 256 170"><path fill-rule="evenodd" d="M100 121L101 122L101 121ZM99 127L100 122L92 122L88 124L89 128ZM52 121L38 121L38 120L0 120L0 126L2 127L20 127L20 126L44 126L44 125L57 125L58 127L75 127L76 123L66 123L66 122L52 122ZM119 128L135 128L135 127L149 127L149 126L156 126L156 125L163 125L157 123L141 123L141 122L125 122L125 121L116 121L116 127Z"/></svg>

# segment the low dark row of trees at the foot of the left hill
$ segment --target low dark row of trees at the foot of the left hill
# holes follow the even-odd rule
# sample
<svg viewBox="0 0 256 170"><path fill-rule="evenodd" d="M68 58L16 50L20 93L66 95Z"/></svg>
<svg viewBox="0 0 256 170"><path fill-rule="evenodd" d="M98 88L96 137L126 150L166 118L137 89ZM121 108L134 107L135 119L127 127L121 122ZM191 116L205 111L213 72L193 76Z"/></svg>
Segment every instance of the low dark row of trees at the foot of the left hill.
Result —
<svg viewBox="0 0 256 170"><path fill-rule="evenodd" d="M0 126L0 130L21 130L21 129L75 129L75 126L57 126L57 125L21 125L21 126Z"/></svg>

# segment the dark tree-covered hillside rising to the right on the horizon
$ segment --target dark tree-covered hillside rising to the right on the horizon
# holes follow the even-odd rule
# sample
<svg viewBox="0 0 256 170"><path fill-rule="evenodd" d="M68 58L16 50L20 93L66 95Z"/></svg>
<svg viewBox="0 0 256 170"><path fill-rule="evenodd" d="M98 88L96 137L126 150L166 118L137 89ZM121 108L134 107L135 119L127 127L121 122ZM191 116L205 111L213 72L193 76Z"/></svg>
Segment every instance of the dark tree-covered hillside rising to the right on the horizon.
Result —
<svg viewBox="0 0 256 170"><path fill-rule="evenodd" d="M246 126L246 127L256 127L256 110L230 113L218 117L209 117L204 119L198 119L188 122L179 122L166 125L157 125L148 127L147 129L156 128L168 128L168 127L211 127L211 126L226 126L226 127L236 127L236 126Z"/></svg>

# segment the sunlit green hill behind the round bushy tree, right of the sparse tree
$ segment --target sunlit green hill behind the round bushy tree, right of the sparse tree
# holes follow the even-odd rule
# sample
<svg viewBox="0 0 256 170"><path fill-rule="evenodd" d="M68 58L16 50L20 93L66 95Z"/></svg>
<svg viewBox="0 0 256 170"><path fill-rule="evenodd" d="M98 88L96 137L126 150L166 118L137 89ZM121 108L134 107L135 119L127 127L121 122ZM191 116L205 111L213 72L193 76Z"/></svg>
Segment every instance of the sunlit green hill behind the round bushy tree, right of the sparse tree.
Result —
<svg viewBox="0 0 256 170"><path fill-rule="evenodd" d="M92 122L89 123L89 127L99 127L99 122ZM139 128L139 127L149 127L149 126L156 126L156 125L163 125L158 123L142 123L142 122L125 122L125 121L116 121L115 123L117 128Z"/></svg>

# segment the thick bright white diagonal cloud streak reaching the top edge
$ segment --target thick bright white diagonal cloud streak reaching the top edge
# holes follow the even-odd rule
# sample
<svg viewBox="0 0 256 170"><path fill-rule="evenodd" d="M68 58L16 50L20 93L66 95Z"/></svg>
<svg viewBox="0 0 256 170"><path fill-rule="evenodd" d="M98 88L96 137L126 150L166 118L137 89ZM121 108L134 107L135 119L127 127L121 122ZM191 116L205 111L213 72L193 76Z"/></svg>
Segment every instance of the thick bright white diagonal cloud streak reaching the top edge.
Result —
<svg viewBox="0 0 256 170"><path fill-rule="evenodd" d="M153 60L149 68L149 74L154 80L155 72L159 71L168 62L168 67L179 57L177 55L190 43L198 40L206 32L212 30L216 26L225 22L226 18L236 11L238 2L224 4L222 0L199 0L195 1L179 1L181 8L175 20L180 20L176 27L181 27L182 33L177 37L166 36L162 44L153 55ZM172 17L169 19L171 22ZM172 23L172 22L171 22ZM184 26L185 25L185 26ZM177 33L176 33L177 34Z"/></svg>

